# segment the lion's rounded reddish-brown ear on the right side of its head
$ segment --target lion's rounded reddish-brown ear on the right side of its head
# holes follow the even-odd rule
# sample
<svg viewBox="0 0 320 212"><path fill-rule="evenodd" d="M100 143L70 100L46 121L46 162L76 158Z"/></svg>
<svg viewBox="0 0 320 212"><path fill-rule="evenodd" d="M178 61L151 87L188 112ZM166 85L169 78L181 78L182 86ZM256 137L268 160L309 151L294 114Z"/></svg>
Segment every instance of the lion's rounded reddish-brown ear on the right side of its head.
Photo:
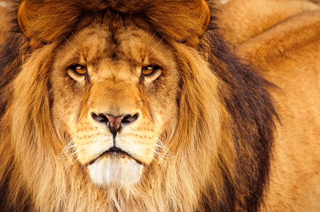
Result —
<svg viewBox="0 0 320 212"><path fill-rule="evenodd" d="M198 45L199 36L207 29L211 17L205 0L157 3L154 10L147 10L146 13L158 32L192 46Z"/></svg>

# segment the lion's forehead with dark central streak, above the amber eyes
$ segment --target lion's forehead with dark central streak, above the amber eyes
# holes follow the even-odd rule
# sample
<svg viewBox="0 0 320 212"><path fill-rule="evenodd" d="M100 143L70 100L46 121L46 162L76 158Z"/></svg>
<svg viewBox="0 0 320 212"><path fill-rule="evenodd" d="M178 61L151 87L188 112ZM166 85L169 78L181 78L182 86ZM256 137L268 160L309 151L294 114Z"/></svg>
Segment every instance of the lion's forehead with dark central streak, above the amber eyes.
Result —
<svg viewBox="0 0 320 212"><path fill-rule="evenodd" d="M159 61L159 57L170 55L162 39L150 30L141 28L136 21L136 17L129 15L119 18L109 14L108 17L96 18L74 32L65 47L82 60L97 66L116 64L121 67L124 62L139 66L150 58Z"/></svg>

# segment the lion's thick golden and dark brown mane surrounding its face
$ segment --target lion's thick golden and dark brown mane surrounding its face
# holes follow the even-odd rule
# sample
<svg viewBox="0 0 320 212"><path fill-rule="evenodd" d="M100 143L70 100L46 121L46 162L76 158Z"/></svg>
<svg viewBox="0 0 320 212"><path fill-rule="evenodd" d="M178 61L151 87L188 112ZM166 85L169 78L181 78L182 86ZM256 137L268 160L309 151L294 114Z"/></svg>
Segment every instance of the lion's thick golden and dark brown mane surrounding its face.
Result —
<svg viewBox="0 0 320 212"><path fill-rule="evenodd" d="M278 117L266 89L274 87L223 41L215 3L24 0L14 8L17 20L0 65L2 211L261 207ZM139 182L125 187L96 187L76 158L61 156L71 135L52 112L56 49L86 27L81 21L108 11L144 17L147 26L141 27L151 27L174 49L180 79L176 124L161 135L168 152L146 165Z"/></svg>

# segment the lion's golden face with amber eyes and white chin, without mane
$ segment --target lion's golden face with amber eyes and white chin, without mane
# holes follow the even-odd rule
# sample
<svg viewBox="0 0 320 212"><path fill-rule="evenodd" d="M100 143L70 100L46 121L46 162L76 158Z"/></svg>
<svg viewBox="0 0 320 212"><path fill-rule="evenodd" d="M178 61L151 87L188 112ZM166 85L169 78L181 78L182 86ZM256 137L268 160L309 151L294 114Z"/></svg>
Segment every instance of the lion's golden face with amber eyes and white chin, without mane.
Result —
<svg viewBox="0 0 320 212"><path fill-rule="evenodd" d="M52 113L71 141L64 153L100 187L138 182L177 122L173 50L142 18L132 20L83 20L54 55Z"/></svg>

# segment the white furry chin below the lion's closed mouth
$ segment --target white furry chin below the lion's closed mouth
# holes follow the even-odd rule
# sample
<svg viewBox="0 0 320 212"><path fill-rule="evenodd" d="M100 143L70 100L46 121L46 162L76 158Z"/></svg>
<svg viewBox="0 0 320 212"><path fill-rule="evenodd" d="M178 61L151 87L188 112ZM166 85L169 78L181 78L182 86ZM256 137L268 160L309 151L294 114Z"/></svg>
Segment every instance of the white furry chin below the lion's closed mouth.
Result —
<svg viewBox="0 0 320 212"><path fill-rule="evenodd" d="M126 186L138 182L143 166L132 158L102 156L88 166L92 181L100 187Z"/></svg>

